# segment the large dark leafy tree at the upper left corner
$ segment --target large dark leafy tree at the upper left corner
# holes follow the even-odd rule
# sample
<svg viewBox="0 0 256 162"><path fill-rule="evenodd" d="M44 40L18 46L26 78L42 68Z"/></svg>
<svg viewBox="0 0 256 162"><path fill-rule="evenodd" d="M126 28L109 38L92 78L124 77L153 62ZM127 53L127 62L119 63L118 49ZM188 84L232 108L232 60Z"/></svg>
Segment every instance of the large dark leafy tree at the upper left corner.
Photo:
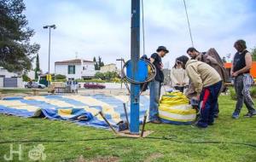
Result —
<svg viewBox="0 0 256 162"><path fill-rule="evenodd" d="M32 61L40 49L30 43L34 31L29 28L23 11L23 0L0 1L0 67L9 72L32 69Z"/></svg>

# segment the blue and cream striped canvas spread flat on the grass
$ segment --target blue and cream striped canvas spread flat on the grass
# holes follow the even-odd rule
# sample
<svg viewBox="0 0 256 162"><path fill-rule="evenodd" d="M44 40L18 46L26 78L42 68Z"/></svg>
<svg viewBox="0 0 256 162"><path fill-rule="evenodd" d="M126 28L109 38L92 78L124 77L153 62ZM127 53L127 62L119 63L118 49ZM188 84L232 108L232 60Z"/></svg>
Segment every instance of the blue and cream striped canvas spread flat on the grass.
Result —
<svg viewBox="0 0 256 162"><path fill-rule="evenodd" d="M105 114L116 128L125 121L123 103L130 116L129 95L39 95L8 97L0 100L0 113L20 117L46 117L48 119L72 120L77 124L108 128L98 114ZM148 96L140 97L140 119L148 110ZM83 117L83 121L78 118Z"/></svg>

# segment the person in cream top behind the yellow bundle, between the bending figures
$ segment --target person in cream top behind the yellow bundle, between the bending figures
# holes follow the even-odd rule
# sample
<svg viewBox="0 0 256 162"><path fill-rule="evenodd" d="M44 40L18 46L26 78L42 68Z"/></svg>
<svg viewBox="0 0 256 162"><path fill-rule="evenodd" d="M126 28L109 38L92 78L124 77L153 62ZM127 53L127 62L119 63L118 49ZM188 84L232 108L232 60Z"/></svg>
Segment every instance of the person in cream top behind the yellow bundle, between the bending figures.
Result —
<svg viewBox="0 0 256 162"><path fill-rule="evenodd" d="M176 61L174 67L172 67L171 80L172 87L181 92L183 92L185 86L189 84L189 78L187 77L180 61Z"/></svg>

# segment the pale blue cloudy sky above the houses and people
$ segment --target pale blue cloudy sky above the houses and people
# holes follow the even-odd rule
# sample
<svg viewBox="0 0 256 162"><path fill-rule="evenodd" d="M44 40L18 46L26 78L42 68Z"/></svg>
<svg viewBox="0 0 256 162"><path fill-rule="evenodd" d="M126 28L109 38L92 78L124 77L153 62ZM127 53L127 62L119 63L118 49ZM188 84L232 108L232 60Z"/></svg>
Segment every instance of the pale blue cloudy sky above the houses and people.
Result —
<svg viewBox="0 0 256 162"><path fill-rule="evenodd" d="M215 48L221 56L234 54L234 42L243 38L248 49L256 46L256 1L187 0L195 48ZM92 61L102 56L105 63L130 58L131 0L25 0L26 17L39 43L40 67L48 69L49 32L45 25L55 24L52 32L50 72L55 61L83 58ZM191 46L183 0L144 0L146 54L165 45L170 53L163 59L166 67L186 55ZM142 36L142 35L141 35ZM142 45L143 43L141 43ZM142 47L142 46L141 46ZM143 49L143 48L141 48ZM118 64L119 65L119 64Z"/></svg>

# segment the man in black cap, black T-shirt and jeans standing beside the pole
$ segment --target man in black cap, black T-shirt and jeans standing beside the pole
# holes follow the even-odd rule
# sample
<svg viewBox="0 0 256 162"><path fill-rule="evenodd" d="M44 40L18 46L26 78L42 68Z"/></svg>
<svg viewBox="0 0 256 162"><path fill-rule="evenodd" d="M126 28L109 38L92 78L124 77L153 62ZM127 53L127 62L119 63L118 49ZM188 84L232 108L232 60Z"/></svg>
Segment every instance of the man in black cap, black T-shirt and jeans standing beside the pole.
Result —
<svg viewBox="0 0 256 162"><path fill-rule="evenodd" d="M164 72L162 58L169 53L169 50L165 46L159 46L156 49L157 53L154 53L150 57L151 63L154 64L156 68L156 75L154 80L149 84L150 89L150 103L149 103L149 121L154 124L160 124L160 119L158 117L158 108L160 100L160 89L161 84L164 82Z"/></svg>

